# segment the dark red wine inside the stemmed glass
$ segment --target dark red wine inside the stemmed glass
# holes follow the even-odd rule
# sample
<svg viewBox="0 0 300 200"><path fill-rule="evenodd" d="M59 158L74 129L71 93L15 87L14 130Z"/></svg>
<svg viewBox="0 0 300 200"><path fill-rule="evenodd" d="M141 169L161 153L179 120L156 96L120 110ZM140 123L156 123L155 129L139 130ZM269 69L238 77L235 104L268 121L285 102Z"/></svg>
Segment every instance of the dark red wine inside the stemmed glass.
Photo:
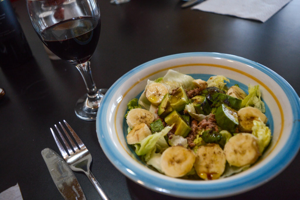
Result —
<svg viewBox="0 0 300 200"><path fill-rule="evenodd" d="M85 63L97 47L100 29L100 20L77 17L44 29L41 39L61 59L74 64Z"/></svg>

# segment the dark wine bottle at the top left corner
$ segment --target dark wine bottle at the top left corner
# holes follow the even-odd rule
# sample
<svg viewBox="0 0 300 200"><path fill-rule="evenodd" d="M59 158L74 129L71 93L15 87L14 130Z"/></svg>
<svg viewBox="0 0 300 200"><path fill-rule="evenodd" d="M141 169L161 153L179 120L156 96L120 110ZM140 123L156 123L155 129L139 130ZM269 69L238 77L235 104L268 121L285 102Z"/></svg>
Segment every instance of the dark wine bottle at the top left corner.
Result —
<svg viewBox="0 0 300 200"><path fill-rule="evenodd" d="M32 58L32 52L10 0L0 0L0 66L9 69Z"/></svg>

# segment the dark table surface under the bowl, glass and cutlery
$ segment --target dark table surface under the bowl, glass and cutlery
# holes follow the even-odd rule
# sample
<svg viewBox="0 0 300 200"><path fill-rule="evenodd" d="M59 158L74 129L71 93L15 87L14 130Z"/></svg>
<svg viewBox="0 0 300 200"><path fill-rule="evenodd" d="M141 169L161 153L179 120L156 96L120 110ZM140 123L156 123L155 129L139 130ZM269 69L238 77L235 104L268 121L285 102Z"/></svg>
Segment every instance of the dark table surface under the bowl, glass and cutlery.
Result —
<svg viewBox="0 0 300 200"><path fill-rule="evenodd" d="M130 69L149 60L184 52L219 52L256 61L281 75L300 94L300 1L292 0L265 23L191 9L179 0L98 1L101 36L91 58L98 88L109 88ZM58 152L49 128L63 119L93 156L91 170L111 200L179 199L146 189L121 174L106 158L95 122L80 120L74 106L85 92L77 69L49 60L34 32L25 0L13 2L34 59L16 69L0 69L0 192L19 184L24 200L62 200L41 156ZM300 134L300 130L299 130ZM76 173L88 200L100 199ZM278 176L243 194L223 199L300 199L300 154Z"/></svg>

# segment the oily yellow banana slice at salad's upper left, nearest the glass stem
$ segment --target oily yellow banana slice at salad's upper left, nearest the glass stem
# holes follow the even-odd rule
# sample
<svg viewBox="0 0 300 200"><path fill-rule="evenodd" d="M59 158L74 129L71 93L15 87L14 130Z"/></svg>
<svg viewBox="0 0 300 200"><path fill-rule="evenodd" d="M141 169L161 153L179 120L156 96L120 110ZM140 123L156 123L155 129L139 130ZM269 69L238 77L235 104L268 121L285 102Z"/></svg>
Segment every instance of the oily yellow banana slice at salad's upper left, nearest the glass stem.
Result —
<svg viewBox="0 0 300 200"><path fill-rule="evenodd" d="M168 92L167 87L161 83L150 83L145 89L146 98L155 106L161 104L161 100Z"/></svg>

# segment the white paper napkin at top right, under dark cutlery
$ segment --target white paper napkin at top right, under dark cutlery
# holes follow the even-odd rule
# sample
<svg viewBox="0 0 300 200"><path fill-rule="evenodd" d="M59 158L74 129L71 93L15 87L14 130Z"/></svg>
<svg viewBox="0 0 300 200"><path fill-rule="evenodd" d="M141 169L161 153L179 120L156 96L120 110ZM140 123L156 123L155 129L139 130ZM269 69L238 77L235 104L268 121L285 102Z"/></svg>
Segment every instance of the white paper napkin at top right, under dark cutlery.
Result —
<svg viewBox="0 0 300 200"><path fill-rule="evenodd" d="M291 0L206 0L191 9L267 21Z"/></svg>

